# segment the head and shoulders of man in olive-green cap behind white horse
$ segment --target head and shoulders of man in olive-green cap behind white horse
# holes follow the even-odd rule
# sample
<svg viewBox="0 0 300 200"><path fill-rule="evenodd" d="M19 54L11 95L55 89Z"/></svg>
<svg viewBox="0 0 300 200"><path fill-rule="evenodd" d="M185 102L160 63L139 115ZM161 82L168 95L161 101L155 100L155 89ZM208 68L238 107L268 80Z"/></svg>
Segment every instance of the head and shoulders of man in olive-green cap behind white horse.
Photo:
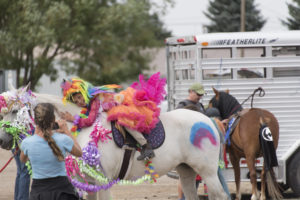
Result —
<svg viewBox="0 0 300 200"><path fill-rule="evenodd" d="M194 83L189 88L188 98L179 102L176 109L193 106L195 108L193 110L199 111L201 113L205 113L204 106L202 105L202 103L199 102L204 94L205 94L205 90L203 88L203 85L200 83Z"/></svg>

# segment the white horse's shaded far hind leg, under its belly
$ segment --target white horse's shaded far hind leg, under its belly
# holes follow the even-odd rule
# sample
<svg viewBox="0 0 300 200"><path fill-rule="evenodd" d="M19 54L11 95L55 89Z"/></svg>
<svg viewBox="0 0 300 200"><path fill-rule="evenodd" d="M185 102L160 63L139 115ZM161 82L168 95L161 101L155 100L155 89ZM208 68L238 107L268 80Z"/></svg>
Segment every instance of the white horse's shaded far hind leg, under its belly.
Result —
<svg viewBox="0 0 300 200"><path fill-rule="evenodd" d="M182 191L186 200L198 200L196 190L196 172L187 164L180 164L176 167L179 174Z"/></svg>

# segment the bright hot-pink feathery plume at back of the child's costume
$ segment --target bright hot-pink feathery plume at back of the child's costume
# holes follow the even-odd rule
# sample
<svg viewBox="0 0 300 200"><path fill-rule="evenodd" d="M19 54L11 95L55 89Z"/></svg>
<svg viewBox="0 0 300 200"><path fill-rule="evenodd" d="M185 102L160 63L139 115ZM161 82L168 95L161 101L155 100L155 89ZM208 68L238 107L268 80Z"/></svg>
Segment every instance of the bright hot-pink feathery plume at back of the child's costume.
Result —
<svg viewBox="0 0 300 200"><path fill-rule="evenodd" d="M143 75L139 76L139 82L134 82L130 87L137 90L135 96L139 100L149 100L159 105L164 96L166 79L160 78L160 72L153 74L147 81Z"/></svg>

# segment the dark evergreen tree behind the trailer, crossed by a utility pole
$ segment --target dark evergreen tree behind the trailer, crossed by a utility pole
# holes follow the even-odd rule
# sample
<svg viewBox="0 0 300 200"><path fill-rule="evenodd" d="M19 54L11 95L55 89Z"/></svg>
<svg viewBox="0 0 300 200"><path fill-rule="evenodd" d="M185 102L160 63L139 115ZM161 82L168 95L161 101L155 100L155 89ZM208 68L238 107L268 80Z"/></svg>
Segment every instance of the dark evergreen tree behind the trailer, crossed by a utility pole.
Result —
<svg viewBox="0 0 300 200"><path fill-rule="evenodd" d="M254 0L246 1L245 30L259 31L266 20L254 5ZM239 32L241 0L210 0L205 16L211 23L206 25L208 32Z"/></svg>

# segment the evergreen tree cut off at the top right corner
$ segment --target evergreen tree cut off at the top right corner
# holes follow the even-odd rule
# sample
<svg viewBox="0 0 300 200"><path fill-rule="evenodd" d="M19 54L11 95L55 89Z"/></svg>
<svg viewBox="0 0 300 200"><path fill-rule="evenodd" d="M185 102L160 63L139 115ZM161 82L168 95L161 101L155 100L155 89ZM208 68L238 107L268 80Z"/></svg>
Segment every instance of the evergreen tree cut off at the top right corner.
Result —
<svg viewBox="0 0 300 200"><path fill-rule="evenodd" d="M290 17L282 21L283 25L289 30L300 30L300 0L293 0L294 3L288 3Z"/></svg>

